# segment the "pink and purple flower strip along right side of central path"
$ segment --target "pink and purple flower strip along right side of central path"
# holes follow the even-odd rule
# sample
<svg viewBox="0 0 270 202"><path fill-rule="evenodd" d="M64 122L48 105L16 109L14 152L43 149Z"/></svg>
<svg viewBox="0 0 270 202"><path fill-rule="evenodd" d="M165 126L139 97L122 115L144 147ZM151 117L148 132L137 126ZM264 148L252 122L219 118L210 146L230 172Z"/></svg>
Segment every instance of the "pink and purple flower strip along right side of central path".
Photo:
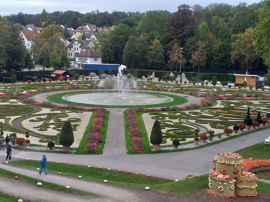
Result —
<svg viewBox="0 0 270 202"><path fill-rule="evenodd" d="M142 131L140 130L140 123L138 122L136 110L127 109L127 119L129 126L129 135L131 136L131 146L133 151L144 151L143 140L141 138Z"/></svg>

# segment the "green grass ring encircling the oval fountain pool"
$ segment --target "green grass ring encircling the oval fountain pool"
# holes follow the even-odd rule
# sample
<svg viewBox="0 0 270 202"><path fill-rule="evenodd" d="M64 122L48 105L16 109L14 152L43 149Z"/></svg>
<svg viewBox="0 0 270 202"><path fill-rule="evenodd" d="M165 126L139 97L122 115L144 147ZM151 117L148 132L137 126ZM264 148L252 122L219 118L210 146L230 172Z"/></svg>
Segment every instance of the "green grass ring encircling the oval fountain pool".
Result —
<svg viewBox="0 0 270 202"><path fill-rule="evenodd" d="M63 92L63 93L58 93L58 94L53 94L47 97L49 101L60 103L60 104L76 104L79 106L84 106L84 107L105 107L105 108L133 108L133 107L139 107L140 105L135 105L135 106L128 106L128 105L122 105L122 106L112 106L112 105L93 105L93 104L84 104L84 103L77 103L77 102L70 102L67 100L62 99L63 96L65 95L71 95L71 94L77 94L77 93L91 93L91 92L104 92L104 91L84 91L84 92ZM105 92L110 92L110 91L105 91ZM133 91L130 91L133 92ZM168 103L161 103L161 104L154 104L154 105L144 105L145 107L165 107L169 105L179 105L186 103L188 100L184 97L177 96L177 95L172 95L172 94L165 94L165 93L160 93L160 92L147 92L147 94L157 94L157 95L163 95L167 97L173 98L173 101L168 102Z"/></svg>

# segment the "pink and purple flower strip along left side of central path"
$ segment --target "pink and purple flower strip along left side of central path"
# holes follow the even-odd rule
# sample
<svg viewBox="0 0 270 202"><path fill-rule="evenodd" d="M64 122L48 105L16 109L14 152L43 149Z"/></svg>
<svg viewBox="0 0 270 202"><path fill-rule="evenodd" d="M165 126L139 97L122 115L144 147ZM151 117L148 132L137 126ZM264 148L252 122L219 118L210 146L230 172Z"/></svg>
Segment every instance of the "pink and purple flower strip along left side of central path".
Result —
<svg viewBox="0 0 270 202"><path fill-rule="evenodd" d="M104 108L98 108L96 110L95 119L92 126L89 128L89 134L85 136L86 145L84 147L85 152L96 152L98 143L100 143L103 138L100 134L102 129L103 120L105 117L106 110Z"/></svg>

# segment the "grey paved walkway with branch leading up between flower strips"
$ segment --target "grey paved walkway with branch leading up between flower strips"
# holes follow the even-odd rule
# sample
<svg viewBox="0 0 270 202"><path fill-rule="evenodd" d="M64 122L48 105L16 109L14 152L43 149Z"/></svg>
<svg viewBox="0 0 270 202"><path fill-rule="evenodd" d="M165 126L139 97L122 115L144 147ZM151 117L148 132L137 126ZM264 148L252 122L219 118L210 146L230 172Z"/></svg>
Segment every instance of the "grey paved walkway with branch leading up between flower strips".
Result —
<svg viewBox="0 0 270 202"><path fill-rule="evenodd" d="M118 120L118 118L117 116L115 120ZM118 120L118 123L122 123L122 120ZM46 157L48 161L52 162L60 161L62 163L74 163L84 166L101 166L114 170L181 180L185 179L189 174L203 175L208 173L210 168L212 168L214 156L218 152L232 152L254 145L264 140L270 133L270 129L266 129L196 150L131 155L126 154L125 144L122 142L124 139L124 130L121 127L123 126L119 124L108 127L108 140L106 139L104 153L101 155L46 153ZM117 130L118 132L115 132ZM118 143L117 140L119 141L119 144L117 144L118 148L115 147L115 144ZM113 144L110 145L111 143ZM4 153L2 151L0 155L4 155ZM41 156L41 152L14 151L13 154L13 157L29 158L32 160L39 160Z"/></svg>

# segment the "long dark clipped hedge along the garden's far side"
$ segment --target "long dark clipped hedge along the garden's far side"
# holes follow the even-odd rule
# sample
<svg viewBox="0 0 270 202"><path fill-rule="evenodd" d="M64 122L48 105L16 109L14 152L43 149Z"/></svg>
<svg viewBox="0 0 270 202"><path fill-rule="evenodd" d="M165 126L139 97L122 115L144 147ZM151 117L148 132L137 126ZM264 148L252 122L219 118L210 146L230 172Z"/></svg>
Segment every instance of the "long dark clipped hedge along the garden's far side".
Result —
<svg viewBox="0 0 270 202"><path fill-rule="evenodd" d="M44 75L51 75L52 72L55 70L45 70L45 71L21 71L21 72L2 72L0 73L0 80L3 80L3 77L10 78L11 74L15 74L16 78L18 81L22 81L22 78L24 76L36 76L38 79L41 79L41 77L44 77ZM98 74L97 69L78 69L78 70L72 70L72 71L77 71L79 75L84 74L85 76L89 76L90 73L94 72ZM105 73L108 73L108 70L104 70ZM117 70L112 70L114 75L117 75ZM130 73L133 73L133 71L136 70L129 70ZM147 77L147 75L151 75L153 73L153 70L137 70L139 73L139 78L141 76ZM162 77L166 71L154 71L155 72L155 77ZM127 73L127 70L122 70L123 74ZM173 72L175 76L178 76L180 72ZM217 77L217 80L222 82L222 81L235 81L235 75L230 75L230 74L214 74L214 73L195 73L195 72L182 72L185 73L186 78L191 80L191 77L196 76L198 74L204 75L203 79L211 81L213 76L215 75ZM48 76L46 76L48 77ZM26 80L26 78L25 78ZM6 79L7 82L9 82L9 79Z"/></svg>

